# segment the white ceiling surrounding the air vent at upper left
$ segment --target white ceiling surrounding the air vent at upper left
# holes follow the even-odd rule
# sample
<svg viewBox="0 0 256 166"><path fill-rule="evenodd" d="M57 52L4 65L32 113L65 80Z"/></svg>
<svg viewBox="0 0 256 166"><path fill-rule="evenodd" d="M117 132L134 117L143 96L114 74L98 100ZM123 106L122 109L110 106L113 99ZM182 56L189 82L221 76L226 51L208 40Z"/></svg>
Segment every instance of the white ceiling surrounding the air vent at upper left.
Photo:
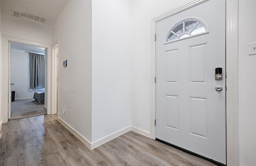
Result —
<svg viewBox="0 0 256 166"><path fill-rule="evenodd" d="M1 14L12 16L12 10L26 12L46 18L45 24L52 26L65 8L68 0L1 0L0 3ZM38 22L38 24L41 23Z"/></svg>

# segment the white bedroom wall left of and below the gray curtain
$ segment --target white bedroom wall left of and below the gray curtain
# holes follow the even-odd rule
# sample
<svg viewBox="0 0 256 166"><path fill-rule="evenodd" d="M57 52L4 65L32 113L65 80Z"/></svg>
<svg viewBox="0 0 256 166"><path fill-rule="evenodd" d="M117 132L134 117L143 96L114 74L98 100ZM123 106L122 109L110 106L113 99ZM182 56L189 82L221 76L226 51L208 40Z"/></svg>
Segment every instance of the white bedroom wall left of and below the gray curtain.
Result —
<svg viewBox="0 0 256 166"><path fill-rule="evenodd" d="M12 48L12 46L11 46ZM11 90L19 92L15 99L33 98L34 91L29 88L28 53L24 50L11 49Z"/></svg>

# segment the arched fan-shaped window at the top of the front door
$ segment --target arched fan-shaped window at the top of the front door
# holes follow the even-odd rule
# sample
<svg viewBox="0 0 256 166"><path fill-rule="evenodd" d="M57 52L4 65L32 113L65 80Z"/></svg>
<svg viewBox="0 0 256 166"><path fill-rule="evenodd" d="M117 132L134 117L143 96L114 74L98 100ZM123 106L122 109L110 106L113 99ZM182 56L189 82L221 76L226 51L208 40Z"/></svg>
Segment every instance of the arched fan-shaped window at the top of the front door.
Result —
<svg viewBox="0 0 256 166"><path fill-rule="evenodd" d="M166 35L166 43L208 33L206 24L198 18L186 18L174 24Z"/></svg>

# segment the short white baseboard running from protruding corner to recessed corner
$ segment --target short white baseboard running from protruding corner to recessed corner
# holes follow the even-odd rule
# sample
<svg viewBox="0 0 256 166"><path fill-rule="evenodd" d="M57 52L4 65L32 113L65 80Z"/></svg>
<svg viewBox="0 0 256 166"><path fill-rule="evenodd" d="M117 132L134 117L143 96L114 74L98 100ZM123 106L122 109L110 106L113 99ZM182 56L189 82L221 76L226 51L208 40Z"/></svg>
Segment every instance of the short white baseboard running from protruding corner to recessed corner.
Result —
<svg viewBox="0 0 256 166"><path fill-rule="evenodd" d="M117 137L119 137L119 136L121 136L121 135L123 135L123 134L125 134L126 132L129 132L129 131L131 131L131 127L130 126L127 127L127 128L124 128L124 129L122 129L122 130L120 130L118 132L115 132L114 134L106 136L105 138L102 138L102 139L100 139L98 141L95 141L91 145L91 150L94 149L94 148L97 148L98 146L103 145L106 142L108 142L110 140L113 140L114 138L117 138Z"/></svg>

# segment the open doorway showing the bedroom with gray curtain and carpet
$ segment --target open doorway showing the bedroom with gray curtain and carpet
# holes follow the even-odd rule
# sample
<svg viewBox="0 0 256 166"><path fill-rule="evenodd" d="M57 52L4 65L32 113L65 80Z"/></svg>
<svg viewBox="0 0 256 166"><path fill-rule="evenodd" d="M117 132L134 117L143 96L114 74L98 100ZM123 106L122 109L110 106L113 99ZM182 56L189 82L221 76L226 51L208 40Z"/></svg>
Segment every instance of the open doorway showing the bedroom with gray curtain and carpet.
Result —
<svg viewBox="0 0 256 166"><path fill-rule="evenodd" d="M9 98L8 119L28 118L47 113L45 85L47 82L47 48L9 42ZM34 58L33 58L34 57ZM36 57L36 58L35 58ZM38 62L37 58L41 61ZM36 60L36 63L30 63ZM35 68L36 66L36 68ZM33 73L36 70L36 76ZM40 73L40 74L39 74ZM37 77L32 79L32 77ZM40 87L32 88L32 82L40 82Z"/></svg>

